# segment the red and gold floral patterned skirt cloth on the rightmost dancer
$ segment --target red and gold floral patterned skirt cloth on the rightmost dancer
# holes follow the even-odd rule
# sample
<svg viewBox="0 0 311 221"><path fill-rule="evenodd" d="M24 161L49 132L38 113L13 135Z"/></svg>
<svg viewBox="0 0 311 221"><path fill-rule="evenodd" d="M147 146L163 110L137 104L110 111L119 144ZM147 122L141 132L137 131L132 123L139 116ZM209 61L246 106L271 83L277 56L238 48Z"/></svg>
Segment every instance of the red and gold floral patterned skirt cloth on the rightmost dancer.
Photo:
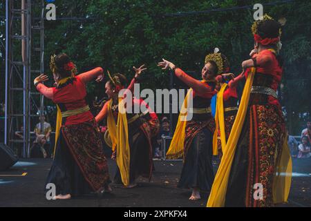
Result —
<svg viewBox="0 0 311 221"><path fill-rule="evenodd" d="M285 123L281 110L270 104L249 107L249 148L245 205L272 206L272 184L278 154L283 146ZM254 200L254 184L263 185L263 199Z"/></svg>

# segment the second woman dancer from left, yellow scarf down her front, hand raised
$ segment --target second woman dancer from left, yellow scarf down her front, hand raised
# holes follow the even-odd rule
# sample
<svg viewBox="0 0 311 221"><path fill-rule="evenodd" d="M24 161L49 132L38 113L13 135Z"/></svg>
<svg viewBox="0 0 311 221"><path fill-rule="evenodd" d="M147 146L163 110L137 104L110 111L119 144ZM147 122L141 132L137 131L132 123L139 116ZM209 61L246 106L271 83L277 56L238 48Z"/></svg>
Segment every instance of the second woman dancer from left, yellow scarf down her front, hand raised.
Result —
<svg viewBox="0 0 311 221"><path fill-rule="evenodd" d="M138 75L145 70L143 66L134 68L136 75L131 81L129 90L133 90L133 83ZM131 113L125 110L124 100L128 93L119 95L120 90L126 85L126 77L116 74L106 83L106 94L109 101L104 104L102 111L95 117L97 122L108 117L109 136L105 135L105 140L113 149L113 158L117 161L117 172L114 182L123 183L125 187L136 186L135 180L140 175L149 177L153 170L151 133L157 133L160 124L158 117L142 99L130 98L130 103L126 103L126 110L131 108ZM135 114L133 110L140 110L144 105L147 111ZM136 108L135 108L136 107ZM110 142L108 141L110 137Z"/></svg>

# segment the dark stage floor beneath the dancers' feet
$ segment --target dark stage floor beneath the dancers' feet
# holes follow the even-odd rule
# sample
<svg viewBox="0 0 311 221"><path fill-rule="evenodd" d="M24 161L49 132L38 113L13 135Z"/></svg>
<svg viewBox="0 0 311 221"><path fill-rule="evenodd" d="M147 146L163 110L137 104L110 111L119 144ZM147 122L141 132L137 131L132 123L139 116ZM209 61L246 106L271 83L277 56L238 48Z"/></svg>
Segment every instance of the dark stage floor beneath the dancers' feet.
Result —
<svg viewBox="0 0 311 221"><path fill-rule="evenodd" d="M293 182L288 204L279 206L311 206L311 159L294 159ZM112 186L113 193L85 195L71 200L46 200L44 184L52 160L21 160L8 171L0 171L0 206L113 206L113 207L204 207L207 193L202 200L189 201L190 190L178 189L176 185L182 162L155 160L156 171L151 182L138 180L138 186L124 189ZM216 167L216 162L214 163ZM109 160L111 177L115 162Z"/></svg>

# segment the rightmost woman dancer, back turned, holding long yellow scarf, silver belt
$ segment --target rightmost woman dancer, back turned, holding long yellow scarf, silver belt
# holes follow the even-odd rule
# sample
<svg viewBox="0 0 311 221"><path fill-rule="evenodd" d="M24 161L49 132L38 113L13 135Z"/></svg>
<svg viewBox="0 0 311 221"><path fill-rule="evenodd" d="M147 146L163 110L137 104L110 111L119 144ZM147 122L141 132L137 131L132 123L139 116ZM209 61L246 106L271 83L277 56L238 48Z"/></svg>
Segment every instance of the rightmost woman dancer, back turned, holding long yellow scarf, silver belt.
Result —
<svg viewBox="0 0 311 221"><path fill-rule="evenodd" d="M207 206L272 206L288 198L292 162L276 95L281 25L265 15L252 30L258 53L242 63L247 81Z"/></svg>

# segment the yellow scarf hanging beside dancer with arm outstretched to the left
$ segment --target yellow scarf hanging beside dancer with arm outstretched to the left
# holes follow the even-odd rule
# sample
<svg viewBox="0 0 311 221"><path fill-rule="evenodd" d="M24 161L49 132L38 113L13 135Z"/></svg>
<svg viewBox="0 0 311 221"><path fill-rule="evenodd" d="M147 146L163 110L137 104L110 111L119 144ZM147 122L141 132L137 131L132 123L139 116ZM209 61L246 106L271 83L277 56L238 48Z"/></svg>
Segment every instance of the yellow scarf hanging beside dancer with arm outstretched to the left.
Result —
<svg viewBox="0 0 311 221"><path fill-rule="evenodd" d="M186 136L185 130L186 130L186 125L187 125L187 107L188 107L188 99L191 93L192 93L192 88L188 90L188 93L182 104L182 108L180 110L180 114L178 117L176 130L173 135L173 139L171 140L171 145L169 146L169 150L167 151L167 159L178 159L184 156L184 144L185 144L185 136Z"/></svg>

